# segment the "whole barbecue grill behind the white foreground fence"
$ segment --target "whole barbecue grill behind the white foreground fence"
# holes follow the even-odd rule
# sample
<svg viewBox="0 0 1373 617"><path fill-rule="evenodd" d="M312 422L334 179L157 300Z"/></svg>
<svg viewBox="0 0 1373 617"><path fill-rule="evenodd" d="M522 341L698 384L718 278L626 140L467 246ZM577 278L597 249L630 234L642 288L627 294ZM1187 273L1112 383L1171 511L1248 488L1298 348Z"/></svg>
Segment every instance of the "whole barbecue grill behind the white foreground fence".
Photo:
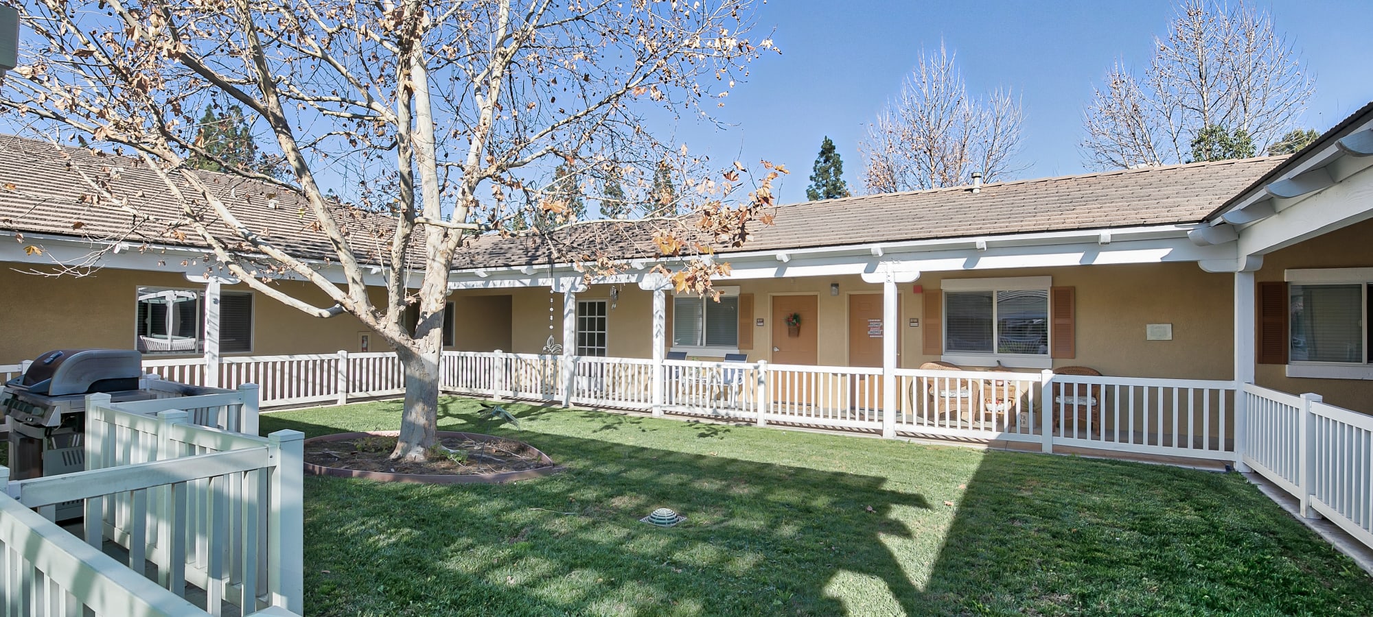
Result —
<svg viewBox="0 0 1373 617"><path fill-rule="evenodd" d="M143 374L133 350L56 350L40 355L0 391L10 429L10 479L56 476L85 469L85 395L111 402L227 392ZM81 503L58 506L58 520L81 516Z"/></svg>

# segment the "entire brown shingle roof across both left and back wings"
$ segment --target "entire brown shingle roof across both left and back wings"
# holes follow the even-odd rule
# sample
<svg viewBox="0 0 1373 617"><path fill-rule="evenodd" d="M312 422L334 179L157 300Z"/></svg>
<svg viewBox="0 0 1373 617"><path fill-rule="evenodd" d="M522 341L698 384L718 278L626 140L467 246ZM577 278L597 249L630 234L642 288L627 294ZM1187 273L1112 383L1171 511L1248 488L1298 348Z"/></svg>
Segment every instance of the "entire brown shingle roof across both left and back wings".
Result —
<svg viewBox="0 0 1373 617"><path fill-rule="evenodd" d="M89 173L124 166L115 181L119 195L161 218L180 218L174 202L162 197L165 185L146 166L117 156L92 156L84 149L66 151L73 165ZM788 204L776 208L774 225L752 223L752 240L744 247L721 252L1193 223L1282 160L1267 156L1023 180L987 184L979 193L957 186ZM203 247L188 228L177 233L162 223L135 222L132 215L106 204L84 203L82 195L92 191L66 165L51 144L0 136L0 229L100 240L130 234L132 229L130 241ZM254 232L302 256L331 256L327 239L312 229L314 218L294 193L228 174L205 177ZM14 182L16 191L4 189L3 182ZM268 206L270 195L275 207ZM390 218L347 218L354 245L371 251L383 244L372 232L384 230ZM77 221L84 223L81 229L73 229ZM552 241L578 247L577 254L599 248L616 258L651 258L655 225L660 226L596 222L555 233ZM551 252L544 239L485 236L460 251L454 267L548 263Z"/></svg>

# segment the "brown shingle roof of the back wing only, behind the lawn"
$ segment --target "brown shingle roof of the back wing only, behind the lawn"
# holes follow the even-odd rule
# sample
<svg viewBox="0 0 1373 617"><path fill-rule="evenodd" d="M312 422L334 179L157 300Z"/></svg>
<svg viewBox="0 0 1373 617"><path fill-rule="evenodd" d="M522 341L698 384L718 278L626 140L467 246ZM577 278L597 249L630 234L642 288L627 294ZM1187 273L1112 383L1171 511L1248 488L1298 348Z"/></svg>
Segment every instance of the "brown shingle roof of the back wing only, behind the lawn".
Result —
<svg viewBox="0 0 1373 617"><path fill-rule="evenodd" d="M1020 180L987 184L978 193L954 186L796 203L777 207L772 226L752 223L752 240L743 247L719 252L1195 223L1284 159L1263 156ZM618 222L589 228L577 233L596 239L605 252L622 258L652 256L647 233L633 233L643 226ZM460 259L456 267L520 266L548 259L546 250L541 252L534 240L482 239L468 252L468 259Z"/></svg>

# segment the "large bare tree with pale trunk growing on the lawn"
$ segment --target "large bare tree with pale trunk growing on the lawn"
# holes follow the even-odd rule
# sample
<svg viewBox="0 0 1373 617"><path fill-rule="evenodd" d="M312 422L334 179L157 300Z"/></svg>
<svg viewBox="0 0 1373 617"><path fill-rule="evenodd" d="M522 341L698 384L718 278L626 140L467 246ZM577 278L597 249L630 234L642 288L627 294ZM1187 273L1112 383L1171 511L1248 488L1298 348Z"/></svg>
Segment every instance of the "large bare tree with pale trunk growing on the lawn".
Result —
<svg viewBox="0 0 1373 617"><path fill-rule="evenodd" d="M548 173L555 165L579 174L605 160L665 160L677 148L652 137L644 114L704 112L703 101L724 97L747 63L772 48L748 38L754 4L36 0L21 5L34 37L0 106L55 141L80 137L92 148L133 152L177 202L176 221L165 225L207 244L220 267L308 314L346 311L395 347L405 413L393 458L422 459L435 437L454 255L478 233L515 233L518 218L556 214L564 223L523 233L584 225L556 195ZM287 178L216 160L196 141L191 114L216 100L242 107L261 151L288 166ZM283 217L299 217L327 237L328 261L346 282L331 282L291 247L239 221L221 186L192 170L191 159L216 160L291 195L302 208ZM748 182L744 167L735 163L717 177L695 163L678 170L696 174L692 191L682 191L699 196L691 217L634 228L665 254L708 251L702 237L741 243L746 225L772 203L769 182L778 170L769 166L766 178L754 178L750 199L735 200L743 202L735 208L726 200ZM341 169L350 170L346 182ZM155 217L139 207L146 196L81 177L99 207ZM360 219L373 225L362 229ZM584 243L556 244L559 258L592 262L590 274L616 267L595 233L575 236ZM386 276L382 306L368 295L365 267ZM708 291L718 267L692 262L674 276L680 287ZM312 282L336 304L290 296L272 284L281 276ZM413 330L405 321L412 304Z"/></svg>

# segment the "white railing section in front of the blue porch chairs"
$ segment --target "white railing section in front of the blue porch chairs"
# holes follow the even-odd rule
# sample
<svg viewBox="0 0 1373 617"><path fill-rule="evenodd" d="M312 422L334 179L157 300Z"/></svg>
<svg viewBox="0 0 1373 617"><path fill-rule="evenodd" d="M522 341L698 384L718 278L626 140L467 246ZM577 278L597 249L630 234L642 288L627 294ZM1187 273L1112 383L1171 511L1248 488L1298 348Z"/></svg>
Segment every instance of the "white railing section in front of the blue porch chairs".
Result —
<svg viewBox="0 0 1373 617"><path fill-rule="evenodd" d="M757 363L663 361L662 376L665 413L757 418Z"/></svg>

